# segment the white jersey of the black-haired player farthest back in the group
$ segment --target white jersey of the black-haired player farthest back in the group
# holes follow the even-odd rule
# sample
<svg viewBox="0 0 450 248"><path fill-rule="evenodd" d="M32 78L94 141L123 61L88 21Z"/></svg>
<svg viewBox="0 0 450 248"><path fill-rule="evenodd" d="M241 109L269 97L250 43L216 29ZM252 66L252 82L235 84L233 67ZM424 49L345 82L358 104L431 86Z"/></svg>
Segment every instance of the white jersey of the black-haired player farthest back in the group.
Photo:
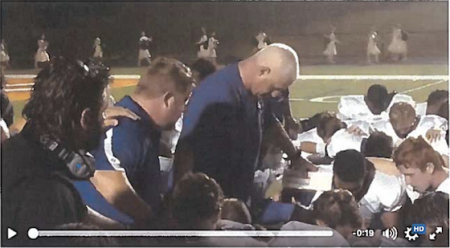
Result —
<svg viewBox="0 0 450 248"><path fill-rule="evenodd" d="M379 115L375 115L370 111L363 95L342 96L338 104L339 113L337 117L344 122L348 120L364 120L369 123L382 119L388 119L390 108L394 103L397 102L406 102L413 107L415 107L416 105L416 102L412 99L411 96L405 94L396 94L392 98L386 111L383 111Z"/></svg>

